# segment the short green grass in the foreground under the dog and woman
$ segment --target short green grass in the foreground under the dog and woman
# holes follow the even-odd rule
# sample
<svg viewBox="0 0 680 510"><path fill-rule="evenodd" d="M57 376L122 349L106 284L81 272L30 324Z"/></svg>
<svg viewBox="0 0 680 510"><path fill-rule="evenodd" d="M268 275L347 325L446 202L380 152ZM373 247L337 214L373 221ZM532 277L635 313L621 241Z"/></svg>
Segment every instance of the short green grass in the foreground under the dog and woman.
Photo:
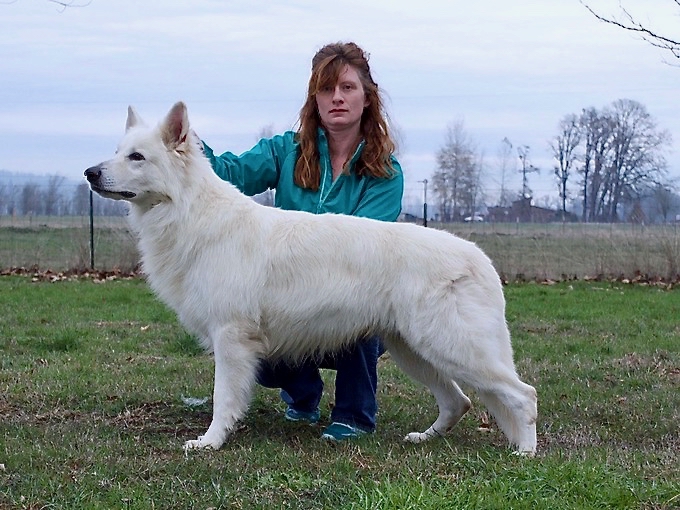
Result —
<svg viewBox="0 0 680 510"><path fill-rule="evenodd" d="M518 370L539 392L536 458L511 455L493 423L478 430L474 394L450 436L403 443L436 408L389 356L370 437L322 442L258 388L221 450L185 455L211 404L184 399L211 395L213 364L144 282L2 277L0 508L677 508L680 290L528 283L506 295Z"/></svg>

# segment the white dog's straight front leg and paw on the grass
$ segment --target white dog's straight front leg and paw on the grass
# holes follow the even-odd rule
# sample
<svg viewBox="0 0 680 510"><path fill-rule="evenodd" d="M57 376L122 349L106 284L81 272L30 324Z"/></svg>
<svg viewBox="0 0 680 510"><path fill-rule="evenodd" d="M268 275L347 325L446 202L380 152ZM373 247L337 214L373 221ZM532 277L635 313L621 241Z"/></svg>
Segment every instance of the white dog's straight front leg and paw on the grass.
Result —
<svg viewBox="0 0 680 510"><path fill-rule="evenodd" d="M252 340L238 328L227 327L213 335L212 344L215 354L212 422L204 435L187 441L185 449L221 447L250 403L259 361Z"/></svg>

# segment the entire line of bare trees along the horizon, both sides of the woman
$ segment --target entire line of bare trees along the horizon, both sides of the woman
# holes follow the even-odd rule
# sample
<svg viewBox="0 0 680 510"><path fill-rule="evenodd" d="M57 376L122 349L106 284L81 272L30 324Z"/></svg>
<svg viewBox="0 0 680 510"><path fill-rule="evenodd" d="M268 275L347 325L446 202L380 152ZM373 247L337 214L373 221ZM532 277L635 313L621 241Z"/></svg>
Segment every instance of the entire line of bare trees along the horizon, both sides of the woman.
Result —
<svg viewBox="0 0 680 510"><path fill-rule="evenodd" d="M646 221L644 212L636 212L636 207L649 209L650 203L655 207L653 215L661 221L674 219L672 213L680 211L680 199L667 175L664 155L670 142L668 131L657 127L642 104L629 99L565 115L558 122L557 133L547 141L559 197L559 205L552 205L561 213L554 219ZM497 193L490 197L485 181L492 171ZM429 182L435 216L443 222L474 220L492 205L497 210L511 210L518 202L525 210L534 204L530 180L537 171L531 148L514 146L507 137L489 164L463 123L455 122L448 126L444 144L436 153L436 169ZM517 173L521 188L510 189L507 182ZM272 202L270 194L257 199ZM88 184L73 186L63 176L45 177L40 184L0 182L0 215L84 216L89 214L89 204ZM127 208L122 202L95 195L93 212L124 216ZM631 217L635 214L637 219Z"/></svg>

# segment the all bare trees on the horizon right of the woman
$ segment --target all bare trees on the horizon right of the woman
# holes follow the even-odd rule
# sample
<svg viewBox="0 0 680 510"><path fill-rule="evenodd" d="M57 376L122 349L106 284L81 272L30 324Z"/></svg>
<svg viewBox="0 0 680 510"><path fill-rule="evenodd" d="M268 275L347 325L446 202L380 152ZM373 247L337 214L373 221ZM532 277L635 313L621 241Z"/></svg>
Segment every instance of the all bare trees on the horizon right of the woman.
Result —
<svg viewBox="0 0 680 510"><path fill-rule="evenodd" d="M659 129L646 108L630 99L565 115L557 134L548 140L561 219L626 221L650 198L664 222L672 219L677 197L665 159L670 144L670 133ZM513 202L533 204L531 174L539 169L527 145L515 147L507 137L501 141L494 172L500 192L491 199L483 185L491 168L462 122L447 128L436 162L431 189L441 221L474 218L490 202L496 208L509 208ZM519 190L508 189L512 172L521 174Z"/></svg>

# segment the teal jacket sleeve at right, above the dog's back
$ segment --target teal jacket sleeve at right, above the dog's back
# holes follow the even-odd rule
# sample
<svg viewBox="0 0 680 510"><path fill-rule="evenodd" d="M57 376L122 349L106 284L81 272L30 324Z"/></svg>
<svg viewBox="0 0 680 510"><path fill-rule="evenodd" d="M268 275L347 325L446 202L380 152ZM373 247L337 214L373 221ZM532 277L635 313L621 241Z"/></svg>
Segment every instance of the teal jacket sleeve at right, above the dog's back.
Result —
<svg viewBox="0 0 680 510"><path fill-rule="evenodd" d="M401 199L404 195L404 175L399 163L393 159L395 173L388 179L374 179L366 189L352 213L381 221L397 221L401 213Z"/></svg>

